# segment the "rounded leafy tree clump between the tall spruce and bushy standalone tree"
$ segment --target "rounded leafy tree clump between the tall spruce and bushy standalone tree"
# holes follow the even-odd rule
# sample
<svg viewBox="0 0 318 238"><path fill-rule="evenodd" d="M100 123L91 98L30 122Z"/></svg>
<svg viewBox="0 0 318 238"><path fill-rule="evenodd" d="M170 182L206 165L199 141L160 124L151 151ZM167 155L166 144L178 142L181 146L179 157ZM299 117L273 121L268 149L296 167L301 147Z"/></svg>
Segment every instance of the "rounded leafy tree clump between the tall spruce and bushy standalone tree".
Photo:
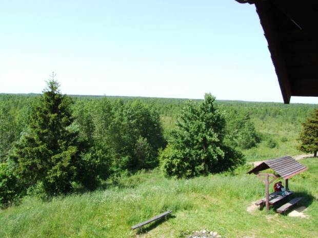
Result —
<svg viewBox="0 0 318 238"><path fill-rule="evenodd" d="M136 170L158 164L158 149L166 142L160 116L147 104L115 102L110 132L114 168Z"/></svg>

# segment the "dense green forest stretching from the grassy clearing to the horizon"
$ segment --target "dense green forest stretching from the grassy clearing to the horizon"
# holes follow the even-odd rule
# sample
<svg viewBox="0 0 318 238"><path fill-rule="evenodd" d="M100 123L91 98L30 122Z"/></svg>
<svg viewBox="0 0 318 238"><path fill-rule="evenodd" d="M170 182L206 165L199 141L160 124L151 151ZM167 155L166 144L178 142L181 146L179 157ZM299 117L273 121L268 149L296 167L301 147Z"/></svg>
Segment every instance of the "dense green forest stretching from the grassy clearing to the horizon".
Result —
<svg viewBox="0 0 318 238"><path fill-rule="evenodd" d="M8 181L2 187L16 184L16 179L21 179L21 185L28 187L22 194L21 187L11 186L11 190L6 190L8 194L35 194L47 198L68 193L74 186L93 190L105 179L116 183L123 174L158 166L165 168L169 160L175 164L180 153L175 150L174 142L185 138L187 130L194 130L193 138L197 138L195 133L201 136L206 133L202 138L216 135L202 131L209 126L209 120L213 120L204 119L210 117L202 114L204 100L67 96L59 93L58 84L51 90L47 89L43 95L0 94L0 170ZM55 105L56 100L58 104ZM183 156L223 158L224 153L230 153L231 157L237 157L237 162L217 165L206 160L207 167L193 164L192 170L196 172L190 172L187 167L190 168L188 162L192 162L188 161L180 169L185 175L175 174L171 166L166 166L170 169L170 174L166 170L166 175L195 177L207 175L207 171L234 168L245 161L300 154L296 139L302 131L302 122L316 108L315 104L209 100L211 104L206 107L215 107L213 114L219 114L217 120L222 121L221 127L216 124L212 127L214 131L221 130L221 136L217 137L222 137L224 146L220 144L216 150L211 150L212 154L204 156L205 146L201 152L194 148ZM61 117L56 118L58 115ZM197 118L197 124L186 125L187 121L193 121L189 118ZM205 120L207 125L201 123ZM46 126L49 124L52 127ZM200 126L202 129L198 129ZM178 147L183 145L186 150L186 144L191 144L192 139L187 140L179 141ZM200 143L201 139L197 141ZM165 150L167 144L169 149ZM220 148L223 151L218 151ZM40 154L47 154L51 159L43 160ZM18 198L2 197L2 203Z"/></svg>

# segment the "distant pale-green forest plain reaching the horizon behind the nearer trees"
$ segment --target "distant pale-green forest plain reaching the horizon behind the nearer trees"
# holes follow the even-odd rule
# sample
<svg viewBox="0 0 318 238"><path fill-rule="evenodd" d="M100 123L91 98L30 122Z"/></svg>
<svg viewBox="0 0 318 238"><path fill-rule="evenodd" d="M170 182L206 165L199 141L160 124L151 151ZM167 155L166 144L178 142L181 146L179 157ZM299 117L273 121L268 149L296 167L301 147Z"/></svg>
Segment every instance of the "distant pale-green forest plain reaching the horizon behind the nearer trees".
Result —
<svg viewBox="0 0 318 238"><path fill-rule="evenodd" d="M26 126L25 119L30 113L30 106L38 100L38 97L39 95L36 94L0 94L0 128L2 133L0 134L2 140L2 157L0 158L4 159L4 154L10 148L10 143L19 138ZM85 120L89 120L87 115L91 116L91 120L96 120L95 106L105 99L111 105L118 105L118 103L131 105L138 101L143 106L149 107L151 111L160 116L165 137L168 136L169 130L175 127L178 117L189 101L189 99L119 96L71 95L71 98L75 123L82 123L79 126L82 130L82 136L84 136L85 130L83 123L89 123L89 121L85 122ZM191 101L195 103L202 100L191 99ZM281 154L299 154L300 152L295 147L299 144L296 138L302 130L301 122L305 121L305 118L310 116L310 113L316 108L316 104L223 101L217 99L215 104L220 105L226 111L228 115L227 127L229 130L233 130L234 134L236 133L236 124L240 124L238 121L243 120L248 115L259 141L252 147L240 146L240 143L233 144L242 150L247 161L271 159L281 156ZM84 119L85 115L86 119ZM92 122L94 126L96 126L96 123L96 121ZM10 127L5 129L8 125Z"/></svg>

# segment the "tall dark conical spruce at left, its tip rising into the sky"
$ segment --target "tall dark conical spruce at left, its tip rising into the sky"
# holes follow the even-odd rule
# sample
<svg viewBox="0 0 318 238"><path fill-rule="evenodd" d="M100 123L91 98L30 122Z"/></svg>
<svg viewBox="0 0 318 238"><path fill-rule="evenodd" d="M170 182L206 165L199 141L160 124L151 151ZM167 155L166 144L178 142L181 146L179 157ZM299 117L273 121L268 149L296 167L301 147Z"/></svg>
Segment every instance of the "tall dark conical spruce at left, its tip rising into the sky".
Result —
<svg viewBox="0 0 318 238"><path fill-rule="evenodd" d="M70 97L61 94L54 78L47 85L12 159L18 164L19 178L41 184L46 195L52 196L72 190L81 151L77 132L69 131L73 122Z"/></svg>

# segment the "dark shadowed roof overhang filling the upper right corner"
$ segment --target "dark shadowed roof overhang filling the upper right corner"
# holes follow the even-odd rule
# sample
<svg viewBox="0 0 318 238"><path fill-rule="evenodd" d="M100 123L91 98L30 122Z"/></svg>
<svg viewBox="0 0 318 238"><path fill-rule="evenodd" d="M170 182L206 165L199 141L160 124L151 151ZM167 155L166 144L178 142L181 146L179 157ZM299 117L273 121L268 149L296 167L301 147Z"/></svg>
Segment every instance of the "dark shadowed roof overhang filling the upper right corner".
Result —
<svg viewBox="0 0 318 238"><path fill-rule="evenodd" d="M318 1L235 0L254 4L279 80L284 103L318 96Z"/></svg>

